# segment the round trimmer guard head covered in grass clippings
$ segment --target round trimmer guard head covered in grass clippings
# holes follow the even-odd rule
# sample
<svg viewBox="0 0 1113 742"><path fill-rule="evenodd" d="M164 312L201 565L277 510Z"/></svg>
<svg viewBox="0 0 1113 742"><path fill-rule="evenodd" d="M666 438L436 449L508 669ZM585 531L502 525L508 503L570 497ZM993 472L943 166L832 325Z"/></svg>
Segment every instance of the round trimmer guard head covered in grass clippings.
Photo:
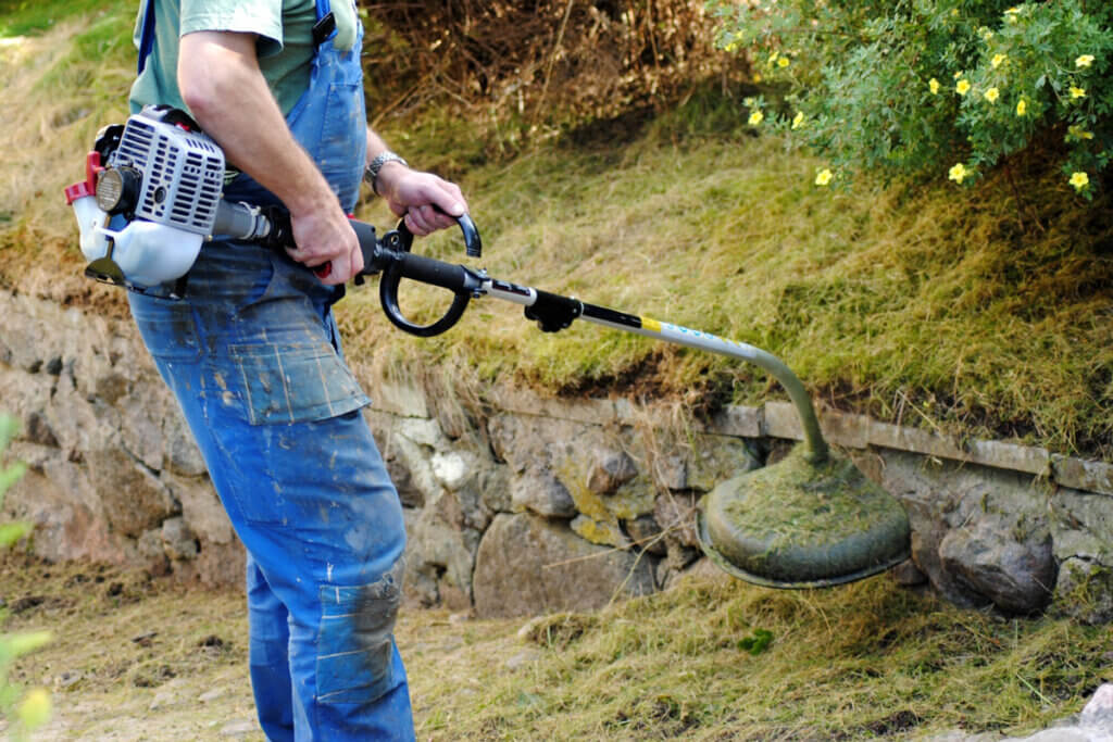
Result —
<svg viewBox="0 0 1113 742"><path fill-rule="evenodd" d="M804 446L711 491L699 540L716 565L767 587L854 582L909 556L900 503L848 458L814 464Z"/></svg>

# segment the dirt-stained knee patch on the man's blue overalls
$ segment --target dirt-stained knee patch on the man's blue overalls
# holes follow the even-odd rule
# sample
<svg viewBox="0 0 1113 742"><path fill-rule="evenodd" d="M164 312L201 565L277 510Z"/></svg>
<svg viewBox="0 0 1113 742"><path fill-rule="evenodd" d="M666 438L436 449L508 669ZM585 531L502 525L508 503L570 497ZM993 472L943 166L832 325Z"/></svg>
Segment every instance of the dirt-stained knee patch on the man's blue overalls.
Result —
<svg viewBox="0 0 1113 742"><path fill-rule="evenodd" d="M394 620L405 558L367 585L322 585L317 634L317 701L372 703L394 687Z"/></svg>

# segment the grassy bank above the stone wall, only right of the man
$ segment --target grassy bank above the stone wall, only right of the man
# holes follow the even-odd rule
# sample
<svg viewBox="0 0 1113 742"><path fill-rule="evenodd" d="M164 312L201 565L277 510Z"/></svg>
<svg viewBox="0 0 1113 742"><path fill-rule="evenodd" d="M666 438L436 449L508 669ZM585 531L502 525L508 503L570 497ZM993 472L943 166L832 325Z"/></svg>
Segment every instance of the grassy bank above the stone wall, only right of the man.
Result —
<svg viewBox="0 0 1113 742"><path fill-rule="evenodd" d="M945 186L820 189L818 164L778 140L720 131L678 145L670 126L618 150L553 148L472 170L482 265L768 349L836 407L1107 455L1113 261L1109 229L1085 209L1021 230L1008 201L967 205ZM449 259L463 261L459 239ZM718 356L582 326L541 335L504 307L411 340L356 319L376 301L367 293L342 308L353 355L374 349L395 368L454 358L483 379L565 392L778 394Z"/></svg>

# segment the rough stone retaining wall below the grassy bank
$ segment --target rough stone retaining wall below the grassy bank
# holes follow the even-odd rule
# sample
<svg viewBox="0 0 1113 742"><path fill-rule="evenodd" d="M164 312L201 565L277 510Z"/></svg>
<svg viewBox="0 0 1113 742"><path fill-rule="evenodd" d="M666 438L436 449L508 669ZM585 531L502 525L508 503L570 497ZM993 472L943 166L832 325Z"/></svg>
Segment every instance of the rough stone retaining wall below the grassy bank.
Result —
<svg viewBox="0 0 1113 742"><path fill-rule="evenodd" d="M130 321L0 295L0 410L29 473L7 517L50 560L97 560L239 585L243 550ZM481 616L591 610L711 568L699 498L799 439L784 403L700 428L668 407L490 389L426 399L363 379L405 506L408 598ZM909 586L963 606L1113 621L1113 467L997 442L967 445L860 416L825 435L897 496Z"/></svg>

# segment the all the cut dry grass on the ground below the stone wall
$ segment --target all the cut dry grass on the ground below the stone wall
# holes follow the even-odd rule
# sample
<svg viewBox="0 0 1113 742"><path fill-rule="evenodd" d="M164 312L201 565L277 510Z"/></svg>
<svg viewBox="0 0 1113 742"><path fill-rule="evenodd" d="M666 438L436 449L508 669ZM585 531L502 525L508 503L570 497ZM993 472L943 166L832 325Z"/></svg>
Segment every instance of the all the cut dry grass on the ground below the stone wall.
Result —
<svg viewBox="0 0 1113 742"><path fill-rule="evenodd" d="M4 631L55 633L13 673L52 689L53 739L216 740L252 719L235 591L9 555L0 594ZM397 639L422 740L1021 734L1113 681L1105 627L961 611L884 577L817 592L691 577L530 621L406 610Z"/></svg>

